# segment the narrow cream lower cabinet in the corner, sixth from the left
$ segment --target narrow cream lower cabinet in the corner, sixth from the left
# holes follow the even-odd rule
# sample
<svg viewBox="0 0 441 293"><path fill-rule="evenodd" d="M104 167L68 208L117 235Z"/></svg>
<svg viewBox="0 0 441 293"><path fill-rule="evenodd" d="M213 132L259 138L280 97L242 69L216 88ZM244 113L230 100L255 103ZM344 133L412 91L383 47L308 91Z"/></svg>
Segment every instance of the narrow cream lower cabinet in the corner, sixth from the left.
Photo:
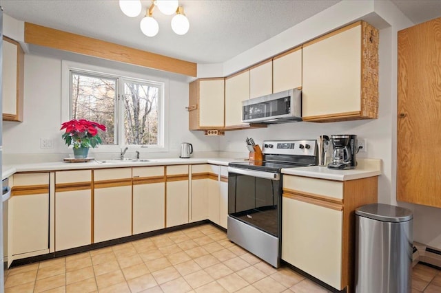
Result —
<svg viewBox="0 0 441 293"><path fill-rule="evenodd" d="M189 221L208 218L209 164L192 165L192 188L189 204Z"/></svg>

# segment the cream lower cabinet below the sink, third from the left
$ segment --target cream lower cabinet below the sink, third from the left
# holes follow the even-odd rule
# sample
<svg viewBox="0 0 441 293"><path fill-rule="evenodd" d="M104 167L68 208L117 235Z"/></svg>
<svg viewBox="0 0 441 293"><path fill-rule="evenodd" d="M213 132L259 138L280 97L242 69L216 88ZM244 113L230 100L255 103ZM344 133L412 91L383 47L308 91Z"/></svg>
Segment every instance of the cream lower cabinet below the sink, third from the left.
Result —
<svg viewBox="0 0 441 293"><path fill-rule="evenodd" d="M94 170L94 243L132 235L132 168Z"/></svg>

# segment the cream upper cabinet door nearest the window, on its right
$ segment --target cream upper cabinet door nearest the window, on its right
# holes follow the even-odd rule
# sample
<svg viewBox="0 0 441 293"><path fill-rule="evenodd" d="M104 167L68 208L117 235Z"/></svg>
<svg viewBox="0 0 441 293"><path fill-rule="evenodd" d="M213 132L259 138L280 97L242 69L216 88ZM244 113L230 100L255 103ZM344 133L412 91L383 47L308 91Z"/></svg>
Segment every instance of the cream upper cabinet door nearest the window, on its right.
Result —
<svg viewBox="0 0 441 293"><path fill-rule="evenodd" d="M223 128L224 79L200 80L199 127Z"/></svg>

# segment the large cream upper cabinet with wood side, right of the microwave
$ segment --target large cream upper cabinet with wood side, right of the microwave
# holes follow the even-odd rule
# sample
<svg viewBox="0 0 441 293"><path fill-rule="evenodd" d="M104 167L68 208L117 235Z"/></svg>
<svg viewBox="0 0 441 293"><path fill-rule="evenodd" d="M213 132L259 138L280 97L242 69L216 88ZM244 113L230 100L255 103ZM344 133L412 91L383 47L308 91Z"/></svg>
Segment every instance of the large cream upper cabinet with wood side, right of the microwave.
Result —
<svg viewBox="0 0 441 293"><path fill-rule="evenodd" d="M303 45L303 120L378 118L378 39L358 21Z"/></svg>

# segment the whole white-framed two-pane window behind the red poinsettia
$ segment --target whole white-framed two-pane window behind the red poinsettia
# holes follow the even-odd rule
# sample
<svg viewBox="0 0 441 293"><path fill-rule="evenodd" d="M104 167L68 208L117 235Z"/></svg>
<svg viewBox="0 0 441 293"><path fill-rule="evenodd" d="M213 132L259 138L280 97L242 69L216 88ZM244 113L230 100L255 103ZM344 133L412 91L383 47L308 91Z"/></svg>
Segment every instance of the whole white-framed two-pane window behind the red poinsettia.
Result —
<svg viewBox="0 0 441 293"><path fill-rule="evenodd" d="M103 69L63 67L69 76L69 113L63 120L87 119L104 124L107 127L101 135L104 147L132 145L164 149L163 82L127 76L127 73L105 74Z"/></svg>

